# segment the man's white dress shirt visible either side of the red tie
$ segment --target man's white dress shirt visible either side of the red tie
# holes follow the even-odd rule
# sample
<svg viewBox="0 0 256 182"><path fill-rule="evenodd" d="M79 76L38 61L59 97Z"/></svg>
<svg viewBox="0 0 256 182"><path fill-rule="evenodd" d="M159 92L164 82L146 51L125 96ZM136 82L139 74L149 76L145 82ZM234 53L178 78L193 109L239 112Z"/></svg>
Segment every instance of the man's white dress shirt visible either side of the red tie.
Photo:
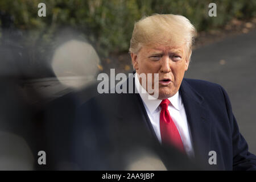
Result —
<svg viewBox="0 0 256 182"><path fill-rule="evenodd" d="M152 96L150 96L139 83L137 73L135 73L135 88L137 89L137 92L142 98L143 104L147 111L148 118L150 118L152 127L154 128L156 137L158 138L159 142L162 143L160 134L161 107L159 106L162 100L148 99ZM189 132L189 126L187 121L187 115L185 113L185 108L179 92L177 92L174 96L168 98L168 100L171 102L168 105L168 111L177 127L177 130L180 133L184 149L187 152L188 156L194 156L191 142L191 134Z"/></svg>

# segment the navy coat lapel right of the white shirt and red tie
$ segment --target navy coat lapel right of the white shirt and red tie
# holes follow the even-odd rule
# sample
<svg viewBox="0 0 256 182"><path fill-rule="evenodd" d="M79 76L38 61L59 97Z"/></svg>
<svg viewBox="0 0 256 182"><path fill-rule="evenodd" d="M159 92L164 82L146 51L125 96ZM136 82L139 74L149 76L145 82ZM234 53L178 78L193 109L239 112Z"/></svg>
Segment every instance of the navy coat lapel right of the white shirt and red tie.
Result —
<svg viewBox="0 0 256 182"><path fill-rule="evenodd" d="M191 131L195 158L208 163L205 159L208 158L210 149L211 122L204 98L189 86L186 79L181 83L180 93Z"/></svg>

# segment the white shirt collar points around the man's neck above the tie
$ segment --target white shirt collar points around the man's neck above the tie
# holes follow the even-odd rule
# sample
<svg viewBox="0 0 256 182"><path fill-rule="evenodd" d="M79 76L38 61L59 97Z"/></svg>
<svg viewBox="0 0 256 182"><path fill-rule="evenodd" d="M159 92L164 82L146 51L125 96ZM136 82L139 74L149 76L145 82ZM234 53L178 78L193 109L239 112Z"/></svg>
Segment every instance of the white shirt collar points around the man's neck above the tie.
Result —
<svg viewBox="0 0 256 182"><path fill-rule="evenodd" d="M147 109L150 111L150 113L151 114L154 113L154 111L158 108L162 100L155 99L155 98L149 99L152 96L150 96L150 94L148 94L146 90L139 83L137 73L135 73L135 88L137 89L139 95L142 98L142 101L144 102L144 105L147 106ZM168 100L175 107L175 109L180 110L181 98L180 98L179 92L177 92L174 96L168 98Z"/></svg>

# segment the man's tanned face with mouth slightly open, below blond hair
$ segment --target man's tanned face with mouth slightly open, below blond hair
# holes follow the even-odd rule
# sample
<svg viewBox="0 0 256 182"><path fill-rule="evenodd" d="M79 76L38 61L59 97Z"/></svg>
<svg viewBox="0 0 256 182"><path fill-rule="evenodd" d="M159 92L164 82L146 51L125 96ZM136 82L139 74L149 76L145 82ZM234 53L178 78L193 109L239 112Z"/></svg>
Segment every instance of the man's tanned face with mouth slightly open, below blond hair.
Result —
<svg viewBox="0 0 256 182"><path fill-rule="evenodd" d="M152 82L152 88L154 73L159 73L158 99L164 100L180 88L189 64L186 51L185 46L143 46L137 54L131 53L131 59L138 74L152 73L152 80L147 79L147 84Z"/></svg>

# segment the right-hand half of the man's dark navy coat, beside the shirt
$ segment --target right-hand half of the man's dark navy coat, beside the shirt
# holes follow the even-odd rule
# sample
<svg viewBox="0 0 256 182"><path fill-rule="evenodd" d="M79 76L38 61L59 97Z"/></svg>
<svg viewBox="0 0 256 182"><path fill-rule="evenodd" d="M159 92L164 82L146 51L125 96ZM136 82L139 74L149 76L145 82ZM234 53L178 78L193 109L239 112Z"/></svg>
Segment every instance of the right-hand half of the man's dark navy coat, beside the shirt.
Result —
<svg viewBox="0 0 256 182"><path fill-rule="evenodd" d="M196 158L209 163L209 151L216 151L217 165L224 170L256 169L256 157L248 151L240 134L228 94L217 84L184 79L180 92L191 129ZM207 164L208 163L208 164Z"/></svg>

